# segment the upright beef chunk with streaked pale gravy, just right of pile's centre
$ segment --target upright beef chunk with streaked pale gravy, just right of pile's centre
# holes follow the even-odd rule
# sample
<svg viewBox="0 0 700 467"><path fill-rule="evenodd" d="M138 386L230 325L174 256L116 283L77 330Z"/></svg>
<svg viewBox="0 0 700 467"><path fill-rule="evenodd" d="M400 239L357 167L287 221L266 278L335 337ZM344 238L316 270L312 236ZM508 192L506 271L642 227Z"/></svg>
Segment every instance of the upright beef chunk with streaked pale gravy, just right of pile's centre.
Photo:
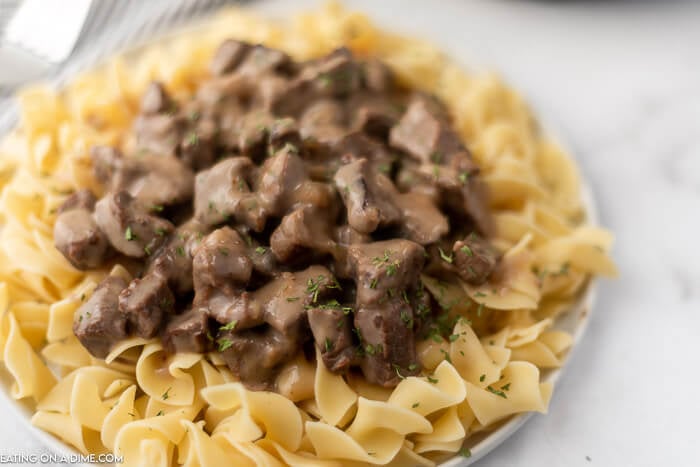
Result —
<svg viewBox="0 0 700 467"><path fill-rule="evenodd" d="M336 172L334 180L353 229L371 233L399 220L401 213L388 199L391 181L381 174L373 174L366 159L344 165Z"/></svg>

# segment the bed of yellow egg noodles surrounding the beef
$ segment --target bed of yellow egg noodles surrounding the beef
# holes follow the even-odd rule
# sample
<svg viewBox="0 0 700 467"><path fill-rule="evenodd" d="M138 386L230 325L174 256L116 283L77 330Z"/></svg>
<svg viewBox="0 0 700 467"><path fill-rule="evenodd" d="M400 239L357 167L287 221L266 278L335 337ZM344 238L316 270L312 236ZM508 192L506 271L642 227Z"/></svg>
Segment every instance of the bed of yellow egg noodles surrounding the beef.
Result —
<svg viewBox="0 0 700 467"><path fill-rule="evenodd" d="M226 38L296 59L345 45L449 107L489 186L492 243L507 274L483 286L423 277L440 305L465 319L448 339L418 345L422 376L385 389L301 359L280 394L253 392L216 353L169 356L159 340L132 338L99 360L73 335L74 312L96 284L107 274L130 276L121 266L71 267L53 244L57 207L77 189L101 191L89 148L128 143L149 82L192 95ZM586 224L575 164L514 91L336 4L286 23L226 10L61 91L31 88L19 100L20 123L0 145L0 360L12 397L34 408L32 423L83 454L213 467L431 466L468 455L463 446L474 434L547 411L552 386L541 371L559 367L572 344L553 321L592 275L615 274L611 235Z"/></svg>

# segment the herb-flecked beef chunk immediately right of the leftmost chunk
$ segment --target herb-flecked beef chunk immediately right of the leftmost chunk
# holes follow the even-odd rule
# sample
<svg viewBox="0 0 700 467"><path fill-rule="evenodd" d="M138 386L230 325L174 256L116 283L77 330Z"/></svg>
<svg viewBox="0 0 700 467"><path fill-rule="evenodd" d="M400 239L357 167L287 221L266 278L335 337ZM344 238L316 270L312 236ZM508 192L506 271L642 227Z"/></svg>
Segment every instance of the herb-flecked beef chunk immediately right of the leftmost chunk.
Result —
<svg viewBox="0 0 700 467"><path fill-rule="evenodd" d="M156 251L173 225L149 214L125 191L109 193L95 205L95 221L115 250L134 258Z"/></svg>

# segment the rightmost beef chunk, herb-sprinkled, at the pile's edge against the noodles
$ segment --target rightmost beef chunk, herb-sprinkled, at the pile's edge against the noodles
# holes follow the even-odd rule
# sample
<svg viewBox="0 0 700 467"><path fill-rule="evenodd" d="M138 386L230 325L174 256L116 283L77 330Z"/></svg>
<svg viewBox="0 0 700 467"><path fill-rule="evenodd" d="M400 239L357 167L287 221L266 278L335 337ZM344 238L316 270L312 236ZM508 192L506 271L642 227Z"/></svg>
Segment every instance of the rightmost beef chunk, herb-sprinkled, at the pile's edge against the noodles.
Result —
<svg viewBox="0 0 700 467"><path fill-rule="evenodd" d="M498 262L498 254L493 247L475 234L456 242L452 251L459 277L474 285L486 282Z"/></svg>

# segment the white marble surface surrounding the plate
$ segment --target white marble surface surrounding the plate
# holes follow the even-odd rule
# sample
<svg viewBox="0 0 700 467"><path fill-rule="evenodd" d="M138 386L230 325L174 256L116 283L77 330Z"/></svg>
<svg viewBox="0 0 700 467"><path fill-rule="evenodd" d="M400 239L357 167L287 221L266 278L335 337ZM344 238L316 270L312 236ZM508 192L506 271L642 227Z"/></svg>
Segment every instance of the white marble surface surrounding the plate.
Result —
<svg viewBox="0 0 700 467"><path fill-rule="evenodd" d="M621 277L602 284L549 414L477 465L700 465L700 3L348 3L500 70L571 143L617 236ZM0 440L41 450L9 418Z"/></svg>

